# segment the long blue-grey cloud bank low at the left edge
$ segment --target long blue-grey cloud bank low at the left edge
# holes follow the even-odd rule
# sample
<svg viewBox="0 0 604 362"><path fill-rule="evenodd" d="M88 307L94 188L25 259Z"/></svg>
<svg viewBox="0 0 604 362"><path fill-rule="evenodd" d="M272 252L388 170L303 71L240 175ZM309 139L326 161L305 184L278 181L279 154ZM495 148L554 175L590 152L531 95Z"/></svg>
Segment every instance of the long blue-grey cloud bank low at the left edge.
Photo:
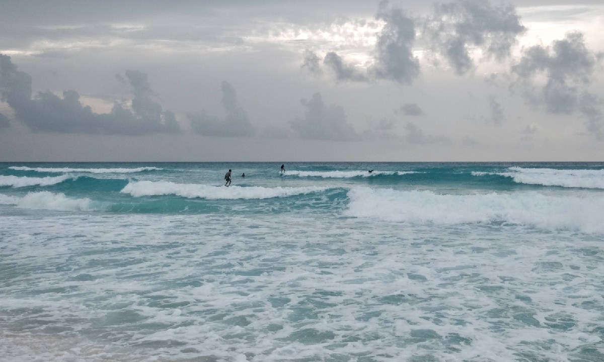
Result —
<svg viewBox="0 0 604 362"><path fill-rule="evenodd" d="M174 113L150 96L147 75L127 71L134 98L132 109L115 104L111 113L94 113L80 102L75 90L65 90L63 97L50 91L31 97L31 77L21 72L9 56L0 54L0 97L14 111L16 119L35 132L97 133L143 135L179 132Z"/></svg>

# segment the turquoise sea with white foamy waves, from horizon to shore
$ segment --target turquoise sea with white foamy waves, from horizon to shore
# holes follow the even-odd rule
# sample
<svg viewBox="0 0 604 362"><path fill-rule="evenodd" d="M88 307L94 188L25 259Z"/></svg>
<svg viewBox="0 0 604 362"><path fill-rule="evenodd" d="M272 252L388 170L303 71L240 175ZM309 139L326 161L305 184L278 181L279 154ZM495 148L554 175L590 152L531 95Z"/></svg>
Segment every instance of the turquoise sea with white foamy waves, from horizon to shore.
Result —
<svg viewBox="0 0 604 362"><path fill-rule="evenodd" d="M0 361L604 361L604 163L282 163L0 163Z"/></svg>

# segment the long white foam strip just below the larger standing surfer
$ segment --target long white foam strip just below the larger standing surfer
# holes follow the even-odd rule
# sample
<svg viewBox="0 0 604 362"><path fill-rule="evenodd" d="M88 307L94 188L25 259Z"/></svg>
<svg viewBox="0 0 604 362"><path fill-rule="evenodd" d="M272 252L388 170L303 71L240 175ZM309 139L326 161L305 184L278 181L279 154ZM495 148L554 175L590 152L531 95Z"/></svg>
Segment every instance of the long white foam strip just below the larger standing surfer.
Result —
<svg viewBox="0 0 604 362"><path fill-rule="evenodd" d="M177 195L187 198L218 199L252 199L286 197L293 195L309 194L310 192L324 191L327 188L317 186L307 187L275 187L266 188L260 186L210 186L196 183L174 183L169 181L138 181L130 182L121 192L135 197L152 195Z"/></svg>

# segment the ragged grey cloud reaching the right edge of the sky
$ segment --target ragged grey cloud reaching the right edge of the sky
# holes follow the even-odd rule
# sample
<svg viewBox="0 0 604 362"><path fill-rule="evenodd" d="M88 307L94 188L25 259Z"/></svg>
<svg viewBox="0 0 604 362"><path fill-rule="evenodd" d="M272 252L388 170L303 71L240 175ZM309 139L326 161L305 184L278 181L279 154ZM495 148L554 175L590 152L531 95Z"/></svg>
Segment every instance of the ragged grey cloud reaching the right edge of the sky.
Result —
<svg viewBox="0 0 604 362"><path fill-rule="evenodd" d="M550 46L525 49L512 72L526 87L527 100L550 113L579 112L588 131L602 138L602 100L586 89L600 59L602 53L588 49L583 34L574 31Z"/></svg>

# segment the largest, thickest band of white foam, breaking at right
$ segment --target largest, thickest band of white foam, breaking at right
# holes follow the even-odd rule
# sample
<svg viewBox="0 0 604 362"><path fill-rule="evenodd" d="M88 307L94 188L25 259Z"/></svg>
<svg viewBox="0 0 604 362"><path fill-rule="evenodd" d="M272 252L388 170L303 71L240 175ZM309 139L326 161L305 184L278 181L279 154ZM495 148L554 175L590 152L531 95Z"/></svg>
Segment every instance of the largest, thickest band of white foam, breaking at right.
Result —
<svg viewBox="0 0 604 362"><path fill-rule="evenodd" d="M504 222L550 230L604 233L604 198L538 192L440 195L431 191L354 188L346 215L410 223Z"/></svg>

